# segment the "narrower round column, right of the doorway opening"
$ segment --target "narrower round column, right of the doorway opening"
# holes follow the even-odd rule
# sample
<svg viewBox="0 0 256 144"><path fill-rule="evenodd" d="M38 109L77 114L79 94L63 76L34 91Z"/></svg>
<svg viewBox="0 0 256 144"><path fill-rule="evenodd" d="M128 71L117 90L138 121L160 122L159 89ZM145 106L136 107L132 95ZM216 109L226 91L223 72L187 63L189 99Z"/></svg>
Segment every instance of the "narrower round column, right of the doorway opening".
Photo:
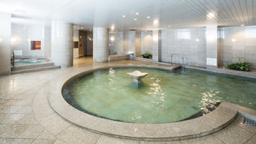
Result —
<svg viewBox="0 0 256 144"><path fill-rule="evenodd" d="M96 62L107 62L109 56L108 28L94 27L93 59Z"/></svg>

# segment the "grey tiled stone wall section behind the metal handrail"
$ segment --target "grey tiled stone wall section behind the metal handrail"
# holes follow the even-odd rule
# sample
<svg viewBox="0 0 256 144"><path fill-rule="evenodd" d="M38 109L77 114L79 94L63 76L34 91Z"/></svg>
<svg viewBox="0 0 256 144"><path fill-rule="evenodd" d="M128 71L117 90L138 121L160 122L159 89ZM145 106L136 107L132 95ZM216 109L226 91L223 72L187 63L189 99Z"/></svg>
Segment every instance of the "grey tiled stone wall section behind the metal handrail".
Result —
<svg viewBox="0 0 256 144"><path fill-rule="evenodd" d="M162 30L161 61L171 62L174 53L184 55L184 64L206 67L206 28ZM182 64L179 55L173 62Z"/></svg>

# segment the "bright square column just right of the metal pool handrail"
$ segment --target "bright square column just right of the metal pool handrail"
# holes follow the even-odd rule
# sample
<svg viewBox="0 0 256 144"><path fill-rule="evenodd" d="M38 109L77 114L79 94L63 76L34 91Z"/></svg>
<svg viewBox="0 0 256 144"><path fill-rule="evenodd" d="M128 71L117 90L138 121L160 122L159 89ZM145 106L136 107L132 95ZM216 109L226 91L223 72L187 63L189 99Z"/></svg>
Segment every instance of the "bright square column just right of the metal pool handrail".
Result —
<svg viewBox="0 0 256 144"><path fill-rule="evenodd" d="M206 27L206 69L217 69L218 59L217 26Z"/></svg>

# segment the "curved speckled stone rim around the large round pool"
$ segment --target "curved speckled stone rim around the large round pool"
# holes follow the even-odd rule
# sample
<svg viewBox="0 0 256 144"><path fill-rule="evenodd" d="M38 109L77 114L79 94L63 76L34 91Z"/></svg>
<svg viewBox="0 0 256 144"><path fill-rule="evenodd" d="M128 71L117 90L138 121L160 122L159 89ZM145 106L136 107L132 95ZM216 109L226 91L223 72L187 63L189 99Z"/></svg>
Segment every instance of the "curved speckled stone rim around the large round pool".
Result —
<svg viewBox="0 0 256 144"><path fill-rule="evenodd" d="M228 107L230 103L222 102L222 104L219 105L219 107L217 107L217 109L213 112L187 121L168 124L133 124L120 121L112 121L83 113L69 105L64 100L61 94L61 90L67 81L86 73L101 69L108 69L110 67L115 68L127 66L118 65L98 67L75 74L72 77L66 78L66 80L61 80L61 82L56 80L58 86L56 86L56 88L52 88L48 94L48 102L50 103L50 106L56 113L61 115L62 118L64 118L66 121L69 121L71 124L75 124L76 126L79 126L83 129L88 129L89 131L96 132L98 134L105 134L111 137L130 140L186 140L194 137L202 137L204 135L211 134L219 131L220 129L223 129L225 126L231 124L238 115L238 110L233 110L232 107ZM160 68L172 70L177 69L180 66L163 68L150 65L129 65L128 67ZM184 129L184 124L186 124L186 129ZM179 129L181 129L181 131ZM184 130L182 131L182 129Z"/></svg>

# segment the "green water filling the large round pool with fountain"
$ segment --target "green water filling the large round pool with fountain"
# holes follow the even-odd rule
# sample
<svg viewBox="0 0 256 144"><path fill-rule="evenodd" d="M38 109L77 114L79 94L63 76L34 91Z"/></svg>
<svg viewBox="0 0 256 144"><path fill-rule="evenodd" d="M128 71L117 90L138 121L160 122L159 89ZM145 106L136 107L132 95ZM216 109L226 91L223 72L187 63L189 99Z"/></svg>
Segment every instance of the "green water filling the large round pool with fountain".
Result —
<svg viewBox="0 0 256 144"><path fill-rule="evenodd" d="M127 72L148 72L137 85ZM195 69L109 69L66 86L86 113L116 121L156 124L181 121L209 102L232 102L256 110L256 80Z"/></svg>

